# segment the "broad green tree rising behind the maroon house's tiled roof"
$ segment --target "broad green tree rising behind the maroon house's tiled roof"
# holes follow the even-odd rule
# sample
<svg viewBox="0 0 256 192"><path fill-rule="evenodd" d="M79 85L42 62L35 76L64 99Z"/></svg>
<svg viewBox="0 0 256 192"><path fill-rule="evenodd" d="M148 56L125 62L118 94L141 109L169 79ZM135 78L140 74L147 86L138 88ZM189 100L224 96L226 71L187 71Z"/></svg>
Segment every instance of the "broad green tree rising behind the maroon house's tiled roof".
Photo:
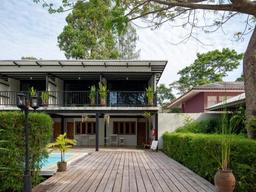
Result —
<svg viewBox="0 0 256 192"><path fill-rule="evenodd" d="M222 81L222 78L227 76L227 72L239 66L239 60L243 55L229 48L197 53L194 63L180 70L177 73L180 79L170 85L179 90L179 94L185 94L195 86Z"/></svg>

